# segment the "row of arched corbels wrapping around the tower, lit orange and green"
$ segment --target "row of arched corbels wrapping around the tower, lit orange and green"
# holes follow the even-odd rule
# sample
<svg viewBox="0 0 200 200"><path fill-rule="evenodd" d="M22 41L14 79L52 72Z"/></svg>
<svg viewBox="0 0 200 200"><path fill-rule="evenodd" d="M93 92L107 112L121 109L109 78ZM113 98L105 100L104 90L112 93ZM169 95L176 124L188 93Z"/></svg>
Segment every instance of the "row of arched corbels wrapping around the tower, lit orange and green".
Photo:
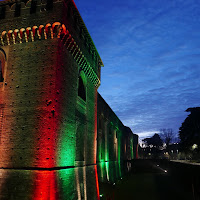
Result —
<svg viewBox="0 0 200 200"><path fill-rule="evenodd" d="M69 33L69 30L67 30L66 26L60 22L55 22L52 25L48 23L46 25L3 31L0 34L0 45L9 46L54 38L61 40L80 68L85 72L86 76L92 81L95 87L98 88L100 86L98 75L90 66L87 58L83 55L78 44Z"/></svg>

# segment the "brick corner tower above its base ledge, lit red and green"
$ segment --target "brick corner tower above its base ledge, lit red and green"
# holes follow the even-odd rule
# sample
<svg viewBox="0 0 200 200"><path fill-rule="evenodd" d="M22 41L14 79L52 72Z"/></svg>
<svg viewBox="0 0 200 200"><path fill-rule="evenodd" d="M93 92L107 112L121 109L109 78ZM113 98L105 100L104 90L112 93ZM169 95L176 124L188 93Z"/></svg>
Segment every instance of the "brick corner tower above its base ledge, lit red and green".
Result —
<svg viewBox="0 0 200 200"><path fill-rule="evenodd" d="M0 166L94 164L102 61L74 2L11 4L0 10Z"/></svg>

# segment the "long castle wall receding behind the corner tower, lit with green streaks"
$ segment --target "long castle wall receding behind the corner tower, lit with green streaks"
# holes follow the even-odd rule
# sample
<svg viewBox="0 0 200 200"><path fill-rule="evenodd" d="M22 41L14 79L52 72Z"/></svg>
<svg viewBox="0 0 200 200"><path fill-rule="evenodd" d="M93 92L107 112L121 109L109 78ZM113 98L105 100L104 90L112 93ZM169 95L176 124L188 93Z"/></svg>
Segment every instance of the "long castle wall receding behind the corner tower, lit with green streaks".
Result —
<svg viewBox="0 0 200 200"><path fill-rule="evenodd" d="M125 127L113 110L98 94L97 161L123 161L136 158L134 146L138 138Z"/></svg>

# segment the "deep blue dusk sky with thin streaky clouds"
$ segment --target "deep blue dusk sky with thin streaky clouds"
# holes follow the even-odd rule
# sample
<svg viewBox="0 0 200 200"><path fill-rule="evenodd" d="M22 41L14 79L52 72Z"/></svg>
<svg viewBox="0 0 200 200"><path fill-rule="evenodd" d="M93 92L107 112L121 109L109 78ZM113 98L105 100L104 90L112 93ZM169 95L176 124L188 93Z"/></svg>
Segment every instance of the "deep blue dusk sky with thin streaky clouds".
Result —
<svg viewBox="0 0 200 200"><path fill-rule="evenodd" d="M104 62L100 94L140 137L200 106L200 1L75 0Z"/></svg>

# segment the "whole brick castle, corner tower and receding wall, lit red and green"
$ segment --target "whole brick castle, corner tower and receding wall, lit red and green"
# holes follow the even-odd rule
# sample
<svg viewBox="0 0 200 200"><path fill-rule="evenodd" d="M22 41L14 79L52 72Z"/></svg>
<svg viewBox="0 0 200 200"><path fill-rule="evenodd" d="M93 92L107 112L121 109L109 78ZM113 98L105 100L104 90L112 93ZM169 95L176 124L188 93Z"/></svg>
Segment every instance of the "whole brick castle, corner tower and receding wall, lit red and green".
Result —
<svg viewBox="0 0 200 200"><path fill-rule="evenodd" d="M137 157L101 67L73 0L0 1L0 199L99 199L97 165Z"/></svg>

